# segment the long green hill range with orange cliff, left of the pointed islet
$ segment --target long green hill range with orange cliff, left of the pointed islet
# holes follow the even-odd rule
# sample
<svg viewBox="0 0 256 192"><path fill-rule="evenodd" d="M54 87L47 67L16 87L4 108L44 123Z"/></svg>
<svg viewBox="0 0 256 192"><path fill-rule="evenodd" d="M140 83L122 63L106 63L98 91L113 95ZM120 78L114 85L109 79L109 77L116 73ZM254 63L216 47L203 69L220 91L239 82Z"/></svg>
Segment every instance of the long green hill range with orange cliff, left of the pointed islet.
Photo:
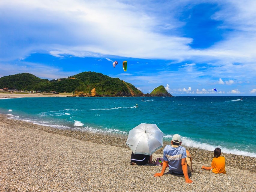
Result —
<svg viewBox="0 0 256 192"><path fill-rule="evenodd" d="M13 87L18 90L74 92L75 96L143 96L132 84L96 72L83 72L60 81L40 79L30 73L0 78L0 88Z"/></svg>

